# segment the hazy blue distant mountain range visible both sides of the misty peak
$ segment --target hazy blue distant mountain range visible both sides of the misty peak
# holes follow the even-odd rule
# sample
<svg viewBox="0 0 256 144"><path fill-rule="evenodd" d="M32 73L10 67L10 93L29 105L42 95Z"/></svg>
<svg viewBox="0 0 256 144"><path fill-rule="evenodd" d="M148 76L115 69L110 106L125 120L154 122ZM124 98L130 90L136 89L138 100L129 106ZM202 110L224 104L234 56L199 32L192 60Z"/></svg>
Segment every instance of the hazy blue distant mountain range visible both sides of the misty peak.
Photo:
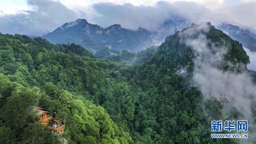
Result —
<svg viewBox="0 0 256 144"><path fill-rule="evenodd" d="M46 38L53 44L80 44L93 54L105 47L116 51L139 52L149 46L160 45L164 42L166 36L174 34L176 28L181 30L190 25L185 20L168 20L154 31L148 31L140 27L138 30L128 30L122 28L120 24L102 28L97 24L88 23L85 19L78 19L63 24L53 32L42 36L42 38ZM222 24L217 28L234 40L241 42L250 51L256 52L255 34L231 24Z"/></svg>

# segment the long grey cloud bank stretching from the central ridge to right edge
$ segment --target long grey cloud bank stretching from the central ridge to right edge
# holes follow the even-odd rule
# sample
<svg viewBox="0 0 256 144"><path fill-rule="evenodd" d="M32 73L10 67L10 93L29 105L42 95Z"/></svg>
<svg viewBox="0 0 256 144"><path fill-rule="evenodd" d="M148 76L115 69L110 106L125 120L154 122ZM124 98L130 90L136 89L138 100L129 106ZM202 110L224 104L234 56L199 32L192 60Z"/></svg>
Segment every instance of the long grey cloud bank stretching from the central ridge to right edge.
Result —
<svg viewBox="0 0 256 144"><path fill-rule="evenodd" d="M240 6L240 3L242 2L224 1L219 4L222 6L220 9L208 9L203 5L187 1L170 3L158 1L152 6L134 6L130 3L118 5L114 3L96 3L92 7L99 16L92 18L92 20L104 27L117 23L124 28L133 30L138 27L157 30L167 20L187 20L190 24L192 22L210 21L215 26L224 22L255 32L255 1L242 3L242 6ZM238 10L239 14L236 12ZM244 13L243 10L247 13ZM236 15L233 13L236 13ZM247 15L248 19L243 18L244 15Z"/></svg>

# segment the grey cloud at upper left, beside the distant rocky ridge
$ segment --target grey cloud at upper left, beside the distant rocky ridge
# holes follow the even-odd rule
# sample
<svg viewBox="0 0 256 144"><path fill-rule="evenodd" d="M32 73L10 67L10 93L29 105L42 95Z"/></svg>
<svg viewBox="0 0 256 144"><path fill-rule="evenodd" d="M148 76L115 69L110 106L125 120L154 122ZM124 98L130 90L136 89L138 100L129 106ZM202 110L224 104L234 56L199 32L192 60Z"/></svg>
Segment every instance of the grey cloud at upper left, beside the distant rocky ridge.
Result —
<svg viewBox="0 0 256 144"><path fill-rule="evenodd" d="M31 10L1 14L2 33L42 36L66 22L85 17L85 13L70 10L59 1L27 1L27 5Z"/></svg>

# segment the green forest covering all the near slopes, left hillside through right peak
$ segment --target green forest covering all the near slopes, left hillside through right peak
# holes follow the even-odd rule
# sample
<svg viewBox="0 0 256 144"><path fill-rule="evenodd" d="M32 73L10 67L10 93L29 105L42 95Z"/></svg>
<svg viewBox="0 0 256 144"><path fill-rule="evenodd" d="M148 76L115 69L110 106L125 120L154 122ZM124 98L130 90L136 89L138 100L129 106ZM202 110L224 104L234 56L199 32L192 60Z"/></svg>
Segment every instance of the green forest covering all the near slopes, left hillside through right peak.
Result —
<svg viewBox="0 0 256 144"><path fill-rule="evenodd" d="M226 61L249 63L238 41L207 24L207 39L228 49ZM74 43L0 33L0 143L239 143L210 137L209 119L226 113L220 101L203 100L190 85L196 55L180 40L176 31L159 47L103 55L106 60ZM140 58L131 62L135 57ZM187 65L187 77L176 73ZM33 122L29 106L65 117L64 133ZM227 117L239 115L234 108Z"/></svg>

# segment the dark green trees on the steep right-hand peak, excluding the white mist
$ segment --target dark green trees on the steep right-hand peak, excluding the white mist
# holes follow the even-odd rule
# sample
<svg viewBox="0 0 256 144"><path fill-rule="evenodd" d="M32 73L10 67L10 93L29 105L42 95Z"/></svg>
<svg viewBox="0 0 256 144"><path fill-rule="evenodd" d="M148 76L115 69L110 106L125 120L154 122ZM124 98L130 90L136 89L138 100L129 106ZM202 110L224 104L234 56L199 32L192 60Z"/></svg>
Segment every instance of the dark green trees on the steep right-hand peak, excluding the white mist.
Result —
<svg viewBox="0 0 256 144"><path fill-rule="evenodd" d="M234 64L249 62L239 42L210 23L208 26L207 39L220 44L220 48L227 48L226 61ZM154 143L237 142L209 138L210 120L218 119L225 113L218 100L212 98L204 102L201 92L191 87L189 81L193 76L193 57L195 55L191 48L181 43L179 31L176 31L174 35L166 37L151 61L144 63L135 72L130 81L136 83L138 93L132 97L135 101L135 118L134 125L130 127L140 134L134 137L136 143L141 141L141 137L144 140L150 137ZM187 69L186 76L177 73L182 67ZM203 114L203 110L208 115Z"/></svg>

